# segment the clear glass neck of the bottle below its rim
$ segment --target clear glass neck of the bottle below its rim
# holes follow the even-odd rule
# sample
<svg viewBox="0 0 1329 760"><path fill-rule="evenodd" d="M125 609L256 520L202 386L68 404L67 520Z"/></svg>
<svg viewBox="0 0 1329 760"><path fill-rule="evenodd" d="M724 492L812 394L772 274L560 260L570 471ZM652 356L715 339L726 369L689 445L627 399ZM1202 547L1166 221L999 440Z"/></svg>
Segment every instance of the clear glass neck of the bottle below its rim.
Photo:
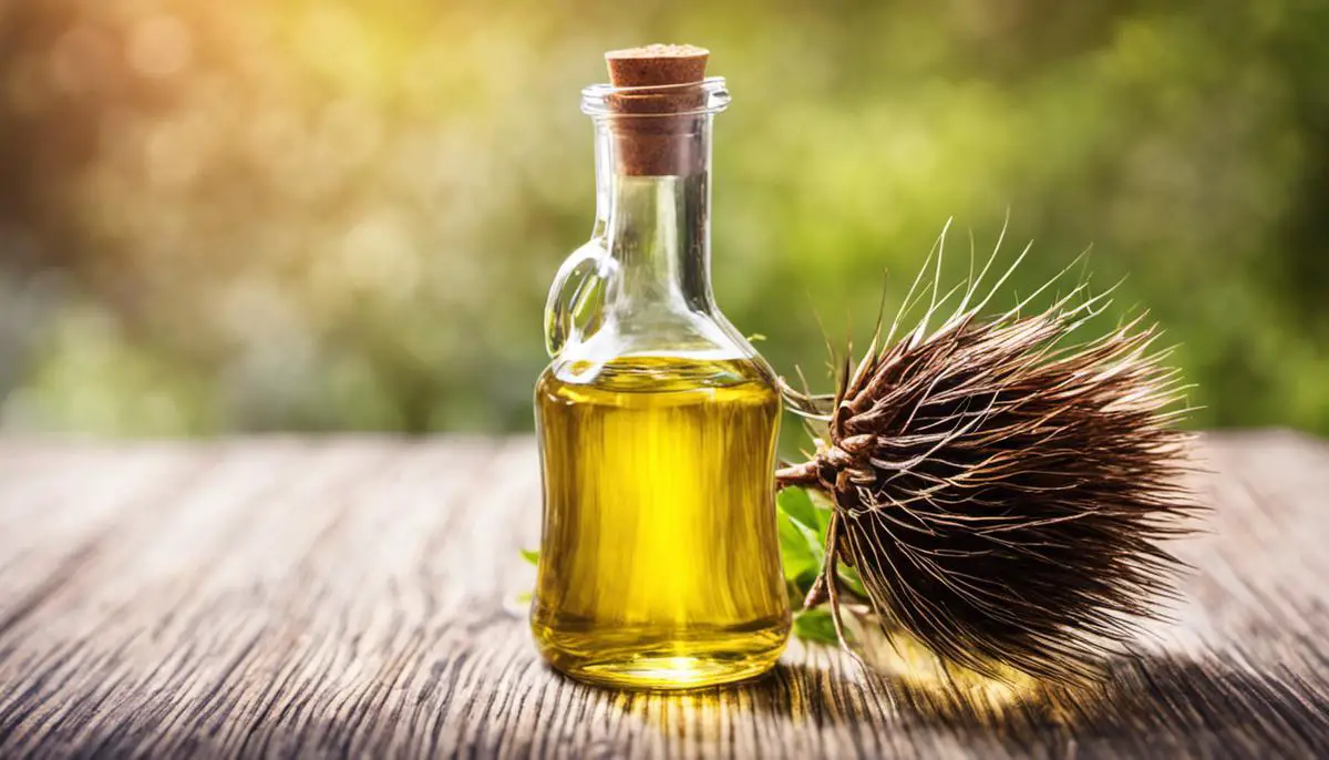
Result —
<svg viewBox="0 0 1329 760"><path fill-rule="evenodd" d="M618 268L606 306L619 314L714 310L710 272L711 116L649 134L666 159L642 158L638 132L597 120L595 237ZM635 129L635 128L634 128ZM682 157L682 158L678 158ZM668 174L645 174L643 167Z"/></svg>

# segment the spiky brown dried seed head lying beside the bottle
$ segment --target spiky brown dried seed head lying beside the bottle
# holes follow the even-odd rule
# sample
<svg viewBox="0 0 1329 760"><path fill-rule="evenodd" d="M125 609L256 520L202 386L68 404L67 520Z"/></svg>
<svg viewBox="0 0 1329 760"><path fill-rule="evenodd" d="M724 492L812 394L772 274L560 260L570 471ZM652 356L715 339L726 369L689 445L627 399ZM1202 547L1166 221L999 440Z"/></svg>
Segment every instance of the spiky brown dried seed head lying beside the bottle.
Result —
<svg viewBox="0 0 1329 760"><path fill-rule="evenodd" d="M929 332L933 283L916 328L847 365L817 454L777 477L833 497L823 578L853 566L884 626L979 671L1094 678L1174 593L1179 563L1158 541L1196 509L1183 388L1142 318L1066 344L1106 294L1080 284L1042 314L983 320L981 280Z"/></svg>

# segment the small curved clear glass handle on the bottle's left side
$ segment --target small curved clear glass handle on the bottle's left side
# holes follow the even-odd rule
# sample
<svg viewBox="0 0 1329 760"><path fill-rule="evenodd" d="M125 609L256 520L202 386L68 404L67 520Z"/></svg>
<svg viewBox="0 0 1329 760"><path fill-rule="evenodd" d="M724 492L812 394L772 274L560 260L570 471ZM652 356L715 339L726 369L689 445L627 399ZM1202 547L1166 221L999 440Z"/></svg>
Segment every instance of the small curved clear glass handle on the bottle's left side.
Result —
<svg viewBox="0 0 1329 760"><path fill-rule="evenodd" d="M593 238L558 267L545 302L545 349L554 357L569 343L581 343L599 330L603 319L605 286L614 262L603 239Z"/></svg>

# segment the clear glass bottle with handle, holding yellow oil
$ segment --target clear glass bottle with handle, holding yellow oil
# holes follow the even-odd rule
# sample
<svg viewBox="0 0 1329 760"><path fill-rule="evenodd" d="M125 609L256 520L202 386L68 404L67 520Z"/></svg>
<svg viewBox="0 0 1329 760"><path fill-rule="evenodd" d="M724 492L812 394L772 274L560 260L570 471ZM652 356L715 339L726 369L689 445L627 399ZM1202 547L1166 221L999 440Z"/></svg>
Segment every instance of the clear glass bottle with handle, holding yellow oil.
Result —
<svg viewBox="0 0 1329 760"><path fill-rule="evenodd" d="M532 602L541 654L581 680L727 683L788 639L780 396L710 283L711 121L728 100L719 77L582 92L597 214L546 308Z"/></svg>

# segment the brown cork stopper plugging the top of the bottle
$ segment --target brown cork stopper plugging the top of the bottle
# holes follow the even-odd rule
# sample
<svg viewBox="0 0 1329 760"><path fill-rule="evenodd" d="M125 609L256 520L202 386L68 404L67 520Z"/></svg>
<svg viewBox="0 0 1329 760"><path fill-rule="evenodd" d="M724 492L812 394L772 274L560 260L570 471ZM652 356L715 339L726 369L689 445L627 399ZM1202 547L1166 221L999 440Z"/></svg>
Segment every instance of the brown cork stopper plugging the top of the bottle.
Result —
<svg viewBox="0 0 1329 760"><path fill-rule="evenodd" d="M704 166L702 82L710 52L695 45L646 45L605 53L609 81L631 89L609 96L615 114L618 171L637 177L692 174ZM678 116L672 116L678 114Z"/></svg>

